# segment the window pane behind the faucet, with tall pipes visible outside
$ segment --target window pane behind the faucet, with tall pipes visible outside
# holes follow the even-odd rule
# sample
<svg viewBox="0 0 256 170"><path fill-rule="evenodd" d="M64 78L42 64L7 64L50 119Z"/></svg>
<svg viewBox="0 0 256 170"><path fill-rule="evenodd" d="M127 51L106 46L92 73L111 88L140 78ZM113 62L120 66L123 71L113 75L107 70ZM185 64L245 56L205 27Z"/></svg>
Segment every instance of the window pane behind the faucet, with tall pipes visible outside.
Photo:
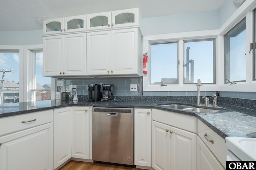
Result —
<svg viewBox="0 0 256 170"><path fill-rule="evenodd" d="M184 43L184 84L215 83L214 40Z"/></svg>

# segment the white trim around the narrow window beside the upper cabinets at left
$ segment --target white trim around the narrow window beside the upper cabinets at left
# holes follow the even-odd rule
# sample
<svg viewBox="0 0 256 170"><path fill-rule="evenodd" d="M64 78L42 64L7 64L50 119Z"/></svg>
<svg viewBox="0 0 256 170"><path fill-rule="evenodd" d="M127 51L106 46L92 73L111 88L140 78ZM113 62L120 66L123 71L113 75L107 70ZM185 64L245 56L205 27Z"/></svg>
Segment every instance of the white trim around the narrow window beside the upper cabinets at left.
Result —
<svg viewBox="0 0 256 170"><path fill-rule="evenodd" d="M31 101L31 92L30 89L35 89L34 87L34 72L30 72L29 70L34 70L34 53L33 51L43 51L43 45L25 45L24 46L24 102L32 102ZM51 99L55 99L55 78L52 78L52 90L51 90ZM26 93L25 93L26 92Z"/></svg>

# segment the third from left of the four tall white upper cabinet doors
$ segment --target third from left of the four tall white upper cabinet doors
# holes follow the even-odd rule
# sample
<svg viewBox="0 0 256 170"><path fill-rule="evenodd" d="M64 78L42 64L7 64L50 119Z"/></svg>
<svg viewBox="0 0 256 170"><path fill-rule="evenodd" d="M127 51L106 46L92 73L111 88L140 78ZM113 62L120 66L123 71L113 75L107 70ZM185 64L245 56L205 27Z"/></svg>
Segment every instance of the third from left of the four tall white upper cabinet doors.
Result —
<svg viewBox="0 0 256 170"><path fill-rule="evenodd" d="M110 74L111 31L87 33L87 75Z"/></svg>

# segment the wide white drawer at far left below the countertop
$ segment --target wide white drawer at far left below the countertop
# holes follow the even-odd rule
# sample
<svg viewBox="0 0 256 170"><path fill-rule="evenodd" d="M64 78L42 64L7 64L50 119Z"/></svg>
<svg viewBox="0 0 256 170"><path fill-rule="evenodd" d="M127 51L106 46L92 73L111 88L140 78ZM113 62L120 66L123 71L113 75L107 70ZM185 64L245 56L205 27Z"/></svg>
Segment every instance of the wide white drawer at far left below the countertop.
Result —
<svg viewBox="0 0 256 170"><path fill-rule="evenodd" d="M36 119L36 120L35 120ZM23 122L27 121L27 122ZM6 133L12 133L30 127L35 127L53 121L52 109L46 111L37 111L24 115L3 117L0 119L0 136Z"/></svg>

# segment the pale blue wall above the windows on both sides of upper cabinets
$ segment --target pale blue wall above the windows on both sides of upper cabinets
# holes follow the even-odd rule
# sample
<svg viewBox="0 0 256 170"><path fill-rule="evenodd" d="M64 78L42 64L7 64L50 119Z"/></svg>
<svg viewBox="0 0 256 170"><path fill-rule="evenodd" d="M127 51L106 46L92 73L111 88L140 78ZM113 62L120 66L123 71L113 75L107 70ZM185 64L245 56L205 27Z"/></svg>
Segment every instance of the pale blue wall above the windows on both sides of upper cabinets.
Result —
<svg viewBox="0 0 256 170"><path fill-rule="evenodd" d="M143 18L142 34L145 36L219 29L237 8L232 0L226 0L218 11ZM35 31L0 31L0 45L42 44L42 35L42 29Z"/></svg>

